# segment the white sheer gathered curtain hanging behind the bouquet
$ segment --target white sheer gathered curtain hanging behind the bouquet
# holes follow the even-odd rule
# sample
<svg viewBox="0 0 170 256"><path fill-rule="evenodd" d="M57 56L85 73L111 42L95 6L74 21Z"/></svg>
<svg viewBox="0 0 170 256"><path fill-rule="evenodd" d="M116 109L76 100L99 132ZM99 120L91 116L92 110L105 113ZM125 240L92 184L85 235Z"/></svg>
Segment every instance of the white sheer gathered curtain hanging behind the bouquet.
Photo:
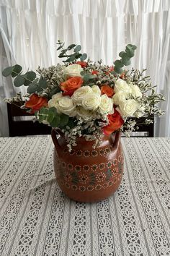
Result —
<svg viewBox="0 0 170 256"><path fill-rule="evenodd" d="M170 136L169 0L0 0L0 8L0 68L14 61L24 71L56 64L58 39L66 46L80 43L92 60L105 64L112 64L125 44L138 46L132 67L147 67L158 92L166 95L167 113L156 121L156 136ZM12 85L1 81L2 96L9 95L4 87Z"/></svg>

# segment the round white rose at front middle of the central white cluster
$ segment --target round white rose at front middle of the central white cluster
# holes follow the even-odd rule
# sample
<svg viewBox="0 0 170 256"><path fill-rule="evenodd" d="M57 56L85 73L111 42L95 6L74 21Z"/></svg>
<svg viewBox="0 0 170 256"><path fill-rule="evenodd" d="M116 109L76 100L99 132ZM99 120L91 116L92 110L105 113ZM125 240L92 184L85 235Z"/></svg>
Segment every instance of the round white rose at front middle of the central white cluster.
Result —
<svg viewBox="0 0 170 256"><path fill-rule="evenodd" d="M100 95L97 93L87 93L82 101L82 106L86 110L94 111L98 108L101 102Z"/></svg>

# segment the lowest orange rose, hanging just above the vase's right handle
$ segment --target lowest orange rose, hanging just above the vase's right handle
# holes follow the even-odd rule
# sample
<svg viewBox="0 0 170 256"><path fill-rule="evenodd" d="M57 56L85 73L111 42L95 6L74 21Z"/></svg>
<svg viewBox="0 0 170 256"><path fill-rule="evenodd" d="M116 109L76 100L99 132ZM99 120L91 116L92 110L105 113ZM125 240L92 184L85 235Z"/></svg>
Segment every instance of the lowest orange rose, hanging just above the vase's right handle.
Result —
<svg viewBox="0 0 170 256"><path fill-rule="evenodd" d="M109 124L106 127L103 127L104 135L110 135L115 130L119 129L124 123L119 112L115 110L115 113L107 116L109 119Z"/></svg>

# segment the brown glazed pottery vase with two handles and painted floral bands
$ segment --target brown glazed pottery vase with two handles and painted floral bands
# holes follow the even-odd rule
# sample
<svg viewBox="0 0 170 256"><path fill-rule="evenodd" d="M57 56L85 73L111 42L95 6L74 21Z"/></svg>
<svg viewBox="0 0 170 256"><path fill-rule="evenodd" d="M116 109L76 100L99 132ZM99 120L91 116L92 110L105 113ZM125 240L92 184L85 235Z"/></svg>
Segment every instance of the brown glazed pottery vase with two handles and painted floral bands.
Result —
<svg viewBox="0 0 170 256"><path fill-rule="evenodd" d="M56 137L56 132L61 136ZM84 137L68 151L64 135L52 130L54 171L61 190L79 202L104 200L120 186L123 174L123 155L120 132L103 136L97 148L94 141Z"/></svg>

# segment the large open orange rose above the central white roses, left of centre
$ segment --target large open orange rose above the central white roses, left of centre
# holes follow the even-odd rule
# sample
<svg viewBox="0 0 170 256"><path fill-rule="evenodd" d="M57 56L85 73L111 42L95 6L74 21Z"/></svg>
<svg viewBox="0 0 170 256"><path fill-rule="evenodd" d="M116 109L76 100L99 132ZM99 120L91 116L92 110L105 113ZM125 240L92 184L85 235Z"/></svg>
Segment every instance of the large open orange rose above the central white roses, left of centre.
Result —
<svg viewBox="0 0 170 256"><path fill-rule="evenodd" d="M61 82L61 90L64 91L64 95L72 95L73 92L80 88L84 80L81 77L70 77L65 82Z"/></svg>

